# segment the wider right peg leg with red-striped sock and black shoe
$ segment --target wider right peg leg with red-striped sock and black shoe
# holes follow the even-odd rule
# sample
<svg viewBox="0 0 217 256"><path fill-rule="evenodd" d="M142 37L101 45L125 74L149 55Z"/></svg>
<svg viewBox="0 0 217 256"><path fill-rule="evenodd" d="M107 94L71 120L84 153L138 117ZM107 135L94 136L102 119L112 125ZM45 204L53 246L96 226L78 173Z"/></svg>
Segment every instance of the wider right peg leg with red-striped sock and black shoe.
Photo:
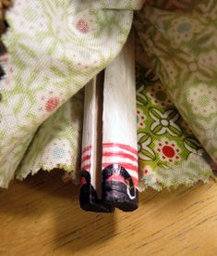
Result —
<svg viewBox="0 0 217 256"><path fill-rule="evenodd" d="M138 208L139 174L132 32L104 72L102 120L102 198L123 211L133 211Z"/></svg>

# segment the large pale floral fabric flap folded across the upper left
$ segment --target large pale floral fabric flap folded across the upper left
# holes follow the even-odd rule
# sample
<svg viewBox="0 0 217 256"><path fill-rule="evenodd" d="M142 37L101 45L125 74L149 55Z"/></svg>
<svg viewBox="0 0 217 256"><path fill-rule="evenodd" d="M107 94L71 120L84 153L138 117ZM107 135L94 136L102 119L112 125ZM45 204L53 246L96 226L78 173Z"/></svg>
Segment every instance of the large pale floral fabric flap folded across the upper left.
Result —
<svg viewBox="0 0 217 256"><path fill-rule="evenodd" d="M1 186L42 122L115 58L132 18L132 10L96 9L90 1L14 1L1 62Z"/></svg>

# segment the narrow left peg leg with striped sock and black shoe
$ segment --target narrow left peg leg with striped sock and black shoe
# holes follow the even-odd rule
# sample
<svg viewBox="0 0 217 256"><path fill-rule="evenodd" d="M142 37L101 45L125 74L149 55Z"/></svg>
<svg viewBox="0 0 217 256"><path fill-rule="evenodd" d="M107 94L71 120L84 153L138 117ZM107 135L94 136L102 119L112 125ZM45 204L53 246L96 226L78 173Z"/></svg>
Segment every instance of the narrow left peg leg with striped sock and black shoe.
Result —
<svg viewBox="0 0 217 256"><path fill-rule="evenodd" d="M86 211L114 211L102 201L103 74L85 86L81 157L80 207ZM100 147L99 147L100 146Z"/></svg>

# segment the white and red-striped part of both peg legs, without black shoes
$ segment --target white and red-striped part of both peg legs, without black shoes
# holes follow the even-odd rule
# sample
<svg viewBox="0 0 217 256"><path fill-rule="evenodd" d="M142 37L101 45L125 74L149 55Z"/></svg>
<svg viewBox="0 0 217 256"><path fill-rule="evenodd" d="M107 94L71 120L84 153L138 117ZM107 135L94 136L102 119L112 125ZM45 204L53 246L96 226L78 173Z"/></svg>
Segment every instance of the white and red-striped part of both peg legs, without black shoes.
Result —
<svg viewBox="0 0 217 256"><path fill-rule="evenodd" d="M85 87L81 169L90 172L91 185L97 190L99 198L102 194L101 171L105 163L124 162L126 166L130 164L131 168L124 167L129 173L133 173L135 185L138 186L133 45L131 34L122 52L104 71L104 82L98 76ZM110 144L127 147L110 147ZM114 153L114 156L108 156L108 153ZM127 154L129 159L123 155L117 156L116 153Z"/></svg>

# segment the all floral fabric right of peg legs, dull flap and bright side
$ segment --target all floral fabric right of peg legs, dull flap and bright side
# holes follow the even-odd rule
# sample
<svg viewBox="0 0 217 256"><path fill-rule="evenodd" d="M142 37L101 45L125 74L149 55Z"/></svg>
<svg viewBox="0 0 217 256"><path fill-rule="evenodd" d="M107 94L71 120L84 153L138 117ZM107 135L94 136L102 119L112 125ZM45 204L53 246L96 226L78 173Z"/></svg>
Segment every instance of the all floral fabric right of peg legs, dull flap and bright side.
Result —
<svg viewBox="0 0 217 256"><path fill-rule="evenodd" d="M160 2L135 22L156 74L138 70L139 161L157 189L206 180L217 161L216 3Z"/></svg>

